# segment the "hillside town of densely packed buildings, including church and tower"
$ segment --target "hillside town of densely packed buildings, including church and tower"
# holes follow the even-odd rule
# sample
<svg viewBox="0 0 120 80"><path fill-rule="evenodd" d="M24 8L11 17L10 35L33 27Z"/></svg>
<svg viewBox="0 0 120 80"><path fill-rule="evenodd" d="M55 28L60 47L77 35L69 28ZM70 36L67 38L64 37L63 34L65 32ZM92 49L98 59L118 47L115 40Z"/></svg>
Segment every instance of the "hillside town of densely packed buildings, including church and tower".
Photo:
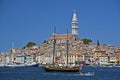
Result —
<svg viewBox="0 0 120 80"><path fill-rule="evenodd" d="M43 44L26 48L12 48L9 52L0 54L0 64L9 64L11 62L23 64L33 61L40 64L52 64L54 40L54 59L57 64L67 63L67 50L69 64L78 64L80 62L84 62L87 65L120 64L119 47L112 45L98 46L92 42L84 44L78 37L78 18L76 11L73 13L72 31L70 34L53 33L47 42Z"/></svg>

